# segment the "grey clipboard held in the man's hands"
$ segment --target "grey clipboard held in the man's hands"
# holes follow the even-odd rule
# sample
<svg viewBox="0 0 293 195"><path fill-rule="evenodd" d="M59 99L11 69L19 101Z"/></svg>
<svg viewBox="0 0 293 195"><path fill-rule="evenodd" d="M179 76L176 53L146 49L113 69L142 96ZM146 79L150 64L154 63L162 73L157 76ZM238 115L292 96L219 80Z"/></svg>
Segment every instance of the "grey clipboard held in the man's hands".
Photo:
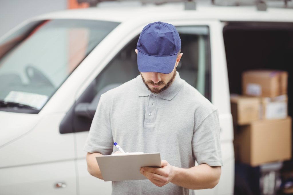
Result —
<svg viewBox="0 0 293 195"><path fill-rule="evenodd" d="M139 170L141 167L161 168L160 153L115 153L96 156L105 182L125 180L147 180Z"/></svg>

